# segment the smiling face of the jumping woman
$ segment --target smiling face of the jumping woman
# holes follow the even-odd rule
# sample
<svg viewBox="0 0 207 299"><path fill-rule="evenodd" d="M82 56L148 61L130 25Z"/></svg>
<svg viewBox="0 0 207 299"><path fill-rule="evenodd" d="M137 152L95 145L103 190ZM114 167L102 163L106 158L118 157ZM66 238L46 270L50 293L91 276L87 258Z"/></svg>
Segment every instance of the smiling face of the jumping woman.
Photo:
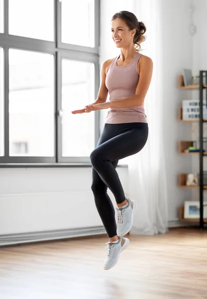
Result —
<svg viewBox="0 0 207 299"><path fill-rule="evenodd" d="M116 47L126 48L130 43L133 43L136 30L129 30L122 19L116 18L111 21L111 32Z"/></svg>

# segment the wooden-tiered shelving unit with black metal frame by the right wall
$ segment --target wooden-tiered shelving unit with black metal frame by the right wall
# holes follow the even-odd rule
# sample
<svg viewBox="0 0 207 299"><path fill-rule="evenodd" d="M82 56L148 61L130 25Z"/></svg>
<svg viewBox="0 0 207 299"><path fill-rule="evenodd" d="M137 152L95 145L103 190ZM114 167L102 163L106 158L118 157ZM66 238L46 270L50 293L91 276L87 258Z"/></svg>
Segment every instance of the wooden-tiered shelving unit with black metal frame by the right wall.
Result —
<svg viewBox="0 0 207 299"><path fill-rule="evenodd" d="M205 82L205 84L204 84ZM186 89L186 90L198 90L199 91L199 101L197 100L197 104L195 104L195 107L196 108L199 108L200 104L201 105L204 105L204 94L203 94L203 90L204 89L207 89L207 71L203 71L203 70L200 70L199 72L199 84L197 85L188 85L188 86L185 86L184 85L184 77L181 75L178 77L178 88L179 89ZM186 101L183 102L183 105L188 105L188 102L190 101ZM199 105L198 105L198 102L199 102ZM203 104L202 104L203 103ZM189 104L189 107L193 107L194 104L191 103L191 105ZM188 107L188 106L186 106ZM202 107L201 107L202 108ZM184 109L184 110L183 110ZM188 115L188 111L192 111L192 114L191 115ZM193 112L196 112L195 114ZM183 114L184 112L184 114ZM182 122L182 123L197 123L198 125L196 127L198 127L199 129L199 143L197 142L194 142L194 141L179 141L179 145L178 145L178 152L179 154L187 154L187 155L195 155L197 154L197 156L199 156L199 162L200 162L200 170L199 170L199 173L196 174L198 175L198 179L193 177L193 181L189 181L188 180L188 183L195 183L193 185L190 185L190 186L187 186L186 183L187 183L187 178L188 178L188 173L180 173L179 174L179 178L178 178L178 184L179 184L179 187L181 188L185 188L185 189L197 189L199 193L199 201L202 203L204 201L204 191L207 190L207 180L206 180L206 175L205 175L205 171L203 169L203 162L204 162L204 157L207 156L207 151L204 151L204 150L199 150L199 151L190 151L189 152L189 148L190 147L193 147L195 146L196 148L200 147L199 144L202 145L203 141L204 141L204 128L203 128L203 124L204 123L207 123L207 119L206 119L206 108L204 108L203 110L203 113L199 113L199 109L186 109L184 106L183 108L180 107L178 109L178 121L179 122ZM186 114L186 115L185 115ZM183 119L184 118L187 118L187 117L197 117L196 119ZM202 136L203 135L203 136ZM203 148L203 147L202 147ZM206 147L204 147L203 149L206 150ZM197 171L196 171L197 172ZM190 176L189 176L190 178ZM202 184L201 184L201 180L202 180ZM204 228L204 223L207 224L207 216L205 215L205 218L206 219L203 219L204 215L197 215L196 216L196 219L195 218L188 218L188 219L185 219L184 218L184 206L180 207L179 208L179 220L180 221L184 221L184 222L191 222L191 223L198 223L199 224L199 227L200 229L203 229ZM185 213L185 215L187 217L191 217L191 215L187 215ZM201 218L200 218L201 217Z"/></svg>

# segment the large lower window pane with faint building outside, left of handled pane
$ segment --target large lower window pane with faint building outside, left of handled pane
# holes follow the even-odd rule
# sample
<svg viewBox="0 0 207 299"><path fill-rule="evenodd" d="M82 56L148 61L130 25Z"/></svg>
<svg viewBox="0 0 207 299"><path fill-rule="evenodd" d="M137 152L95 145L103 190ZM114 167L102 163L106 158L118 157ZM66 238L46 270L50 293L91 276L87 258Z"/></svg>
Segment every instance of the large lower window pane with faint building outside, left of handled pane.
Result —
<svg viewBox="0 0 207 299"><path fill-rule="evenodd" d="M9 49L9 155L54 156L54 57Z"/></svg>

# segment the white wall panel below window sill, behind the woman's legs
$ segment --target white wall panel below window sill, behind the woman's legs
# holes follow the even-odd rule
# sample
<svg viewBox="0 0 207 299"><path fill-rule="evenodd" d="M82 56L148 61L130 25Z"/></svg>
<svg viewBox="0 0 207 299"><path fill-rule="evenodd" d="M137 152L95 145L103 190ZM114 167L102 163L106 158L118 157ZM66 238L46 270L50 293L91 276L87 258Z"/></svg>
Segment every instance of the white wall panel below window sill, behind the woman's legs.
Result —
<svg viewBox="0 0 207 299"><path fill-rule="evenodd" d="M91 170L0 168L0 235L101 226ZM118 173L127 193L127 168Z"/></svg>

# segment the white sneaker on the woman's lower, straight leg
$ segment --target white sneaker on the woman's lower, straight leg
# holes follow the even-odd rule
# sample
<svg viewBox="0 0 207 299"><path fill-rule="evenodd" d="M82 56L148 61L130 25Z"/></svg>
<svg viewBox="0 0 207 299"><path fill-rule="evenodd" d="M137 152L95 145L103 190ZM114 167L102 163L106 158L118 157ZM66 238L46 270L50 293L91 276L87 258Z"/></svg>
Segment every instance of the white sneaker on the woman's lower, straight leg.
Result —
<svg viewBox="0 0 207 299"><path fill-rule="evenodd" d="M103 265L104 270L109 270L118 262L120 253L129 245L129 239L119 237L118 243L108 242L107 256Z"/></svg>

